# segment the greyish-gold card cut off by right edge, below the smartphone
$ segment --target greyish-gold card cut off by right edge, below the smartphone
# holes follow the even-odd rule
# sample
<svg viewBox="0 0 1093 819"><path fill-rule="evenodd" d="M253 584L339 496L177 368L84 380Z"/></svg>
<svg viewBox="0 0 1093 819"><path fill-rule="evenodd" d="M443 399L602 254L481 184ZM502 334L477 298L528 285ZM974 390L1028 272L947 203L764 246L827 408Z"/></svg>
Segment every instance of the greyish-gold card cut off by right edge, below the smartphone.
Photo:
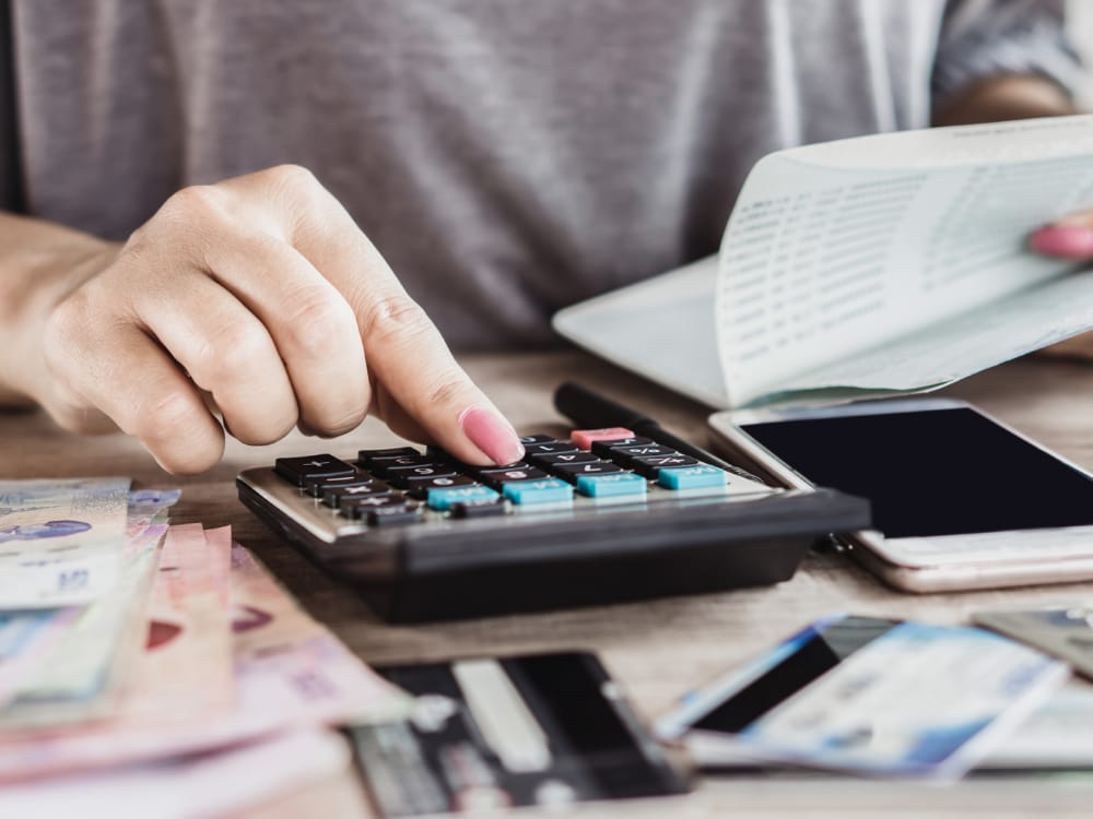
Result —
<svg viewBox="0 0 1093 819"><path fill-rule="evenodd" d="M1083 677L1093 679L1093 607L976 612L972 619L984 628L1065 660Z"/></svg>

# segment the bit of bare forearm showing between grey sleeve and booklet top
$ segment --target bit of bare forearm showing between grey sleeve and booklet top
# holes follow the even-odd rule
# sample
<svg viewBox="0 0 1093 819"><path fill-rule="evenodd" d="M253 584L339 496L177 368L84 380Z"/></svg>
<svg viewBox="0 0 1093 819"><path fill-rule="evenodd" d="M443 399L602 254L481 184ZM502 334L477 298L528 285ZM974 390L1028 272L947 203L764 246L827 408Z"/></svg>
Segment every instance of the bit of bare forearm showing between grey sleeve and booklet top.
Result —
<svg viewBox="0 0 1093 819"><path fill-rule="evenodd" d="M936 126L1001 122L1077 114L1073 100L1043 76L1003 74L973 83L933 112Z"/></svg>

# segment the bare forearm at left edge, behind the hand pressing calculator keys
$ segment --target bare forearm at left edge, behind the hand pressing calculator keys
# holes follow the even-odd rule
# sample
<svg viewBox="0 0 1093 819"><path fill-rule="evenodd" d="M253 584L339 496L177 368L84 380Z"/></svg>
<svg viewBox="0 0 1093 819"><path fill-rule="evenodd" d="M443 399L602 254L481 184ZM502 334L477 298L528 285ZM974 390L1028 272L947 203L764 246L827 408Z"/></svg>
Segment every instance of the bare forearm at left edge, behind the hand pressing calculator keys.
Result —
<svg viewBox="0 0 1093 819"><path fill-rule="evenodd" d="M32 403L27 378L40 367L33 325L116 247L60 225L0 212L0 407Z"/></svg>

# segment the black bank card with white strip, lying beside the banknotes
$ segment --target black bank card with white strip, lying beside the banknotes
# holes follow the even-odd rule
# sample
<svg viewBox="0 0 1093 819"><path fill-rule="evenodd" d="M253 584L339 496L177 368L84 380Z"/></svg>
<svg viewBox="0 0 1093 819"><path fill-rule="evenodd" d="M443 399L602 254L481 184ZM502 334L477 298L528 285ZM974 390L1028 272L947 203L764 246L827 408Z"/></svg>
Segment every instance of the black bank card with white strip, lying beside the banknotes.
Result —
<svg viewBox="0 0 1093 819"><path fill-rule="evenodd" d="M667 796L686 783L591 654L376 669L408 720L349 731L386 817Z"/></svg>

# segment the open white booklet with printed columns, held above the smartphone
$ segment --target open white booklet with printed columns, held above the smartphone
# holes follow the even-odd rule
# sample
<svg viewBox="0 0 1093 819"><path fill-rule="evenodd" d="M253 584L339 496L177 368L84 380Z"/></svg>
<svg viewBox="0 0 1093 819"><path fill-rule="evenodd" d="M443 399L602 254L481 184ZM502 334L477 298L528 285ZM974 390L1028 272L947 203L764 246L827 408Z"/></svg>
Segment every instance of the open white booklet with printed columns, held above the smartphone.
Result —
<svg viewBox="0 0 1093 819"><path fill-rule="evenodd" d="M1093 328L1093 271L1026 247L1090 207L1093 115L779 151L717 257L554 327L712 406L932 390Z"/></svg>

